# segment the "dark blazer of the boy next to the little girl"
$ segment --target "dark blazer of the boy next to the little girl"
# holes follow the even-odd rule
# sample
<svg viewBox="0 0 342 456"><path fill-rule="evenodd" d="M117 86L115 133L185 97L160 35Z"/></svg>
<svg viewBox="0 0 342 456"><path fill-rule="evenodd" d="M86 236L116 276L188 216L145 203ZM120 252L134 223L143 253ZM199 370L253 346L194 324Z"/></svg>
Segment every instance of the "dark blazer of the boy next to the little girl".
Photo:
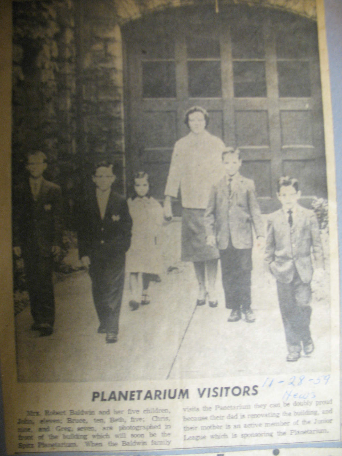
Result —
<svg viewBox="0 0 342 456"><path fill-rule="evenodd" d="M79 203L79 257L91 256L95 250L104 258L124 254L130 248L131 230L132 219L124 197L112 187L102 220L92 185Z"/></svg>

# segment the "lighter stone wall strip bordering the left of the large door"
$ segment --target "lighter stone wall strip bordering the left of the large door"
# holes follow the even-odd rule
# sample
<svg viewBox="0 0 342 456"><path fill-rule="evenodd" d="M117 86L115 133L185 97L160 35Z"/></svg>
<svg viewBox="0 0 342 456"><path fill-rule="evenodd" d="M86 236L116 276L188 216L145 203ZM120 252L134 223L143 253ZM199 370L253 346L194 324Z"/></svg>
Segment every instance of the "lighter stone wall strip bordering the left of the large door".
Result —
<svg viewBox="0 0 342 456"><path fill-rule="evenodd" d="M83 3L81 72L83 160L85 168L94 159L109 157L124 191L124 130L122 44L111 0ZM121 177L121 179L120 179Z"/></svg>

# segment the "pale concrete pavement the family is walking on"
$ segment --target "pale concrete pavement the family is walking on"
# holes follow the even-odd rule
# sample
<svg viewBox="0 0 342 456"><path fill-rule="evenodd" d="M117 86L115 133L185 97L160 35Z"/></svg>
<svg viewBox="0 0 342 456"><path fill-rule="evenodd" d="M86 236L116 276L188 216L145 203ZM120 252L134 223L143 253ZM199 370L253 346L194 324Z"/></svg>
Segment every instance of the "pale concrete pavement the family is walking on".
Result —
<svg viewBox="0 0 342 456"><path fill-rule="evenodd" d="M181 263L180 223L165 226L161 283L150 285L151 302L130 311L128 280L119 320L119 340L106 344L97 334L91 282L86 271L55 284L56 323L50 337L30 330L29 307L16 316L18 380L87 382L326 371L330 368L328 284L314 292L311 332L315 351L286 363L285 335L275 281L267 283L262 258L253 252L254 323L228 323L221 271L219 306L196 307L197 285L191 263ZM174 266L166 274L168 266ZM126 278L127 279L127 278Z"/></svg>

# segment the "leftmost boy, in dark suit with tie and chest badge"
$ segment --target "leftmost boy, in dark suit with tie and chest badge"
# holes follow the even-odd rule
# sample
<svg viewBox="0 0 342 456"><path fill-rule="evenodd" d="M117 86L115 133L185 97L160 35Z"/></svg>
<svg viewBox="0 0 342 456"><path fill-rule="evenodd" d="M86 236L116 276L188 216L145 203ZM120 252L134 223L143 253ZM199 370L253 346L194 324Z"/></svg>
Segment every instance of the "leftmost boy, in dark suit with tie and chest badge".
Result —
<svg viewBox="0 0 342 456"><path fill-rule="evenodd" d="M43 152L28 154L29 177L13 191L13 251L24 259L34 320L31 329L40 331L41 336L53 331L53 259L62 245L62 192L43 178L46 169Z"/></svg>

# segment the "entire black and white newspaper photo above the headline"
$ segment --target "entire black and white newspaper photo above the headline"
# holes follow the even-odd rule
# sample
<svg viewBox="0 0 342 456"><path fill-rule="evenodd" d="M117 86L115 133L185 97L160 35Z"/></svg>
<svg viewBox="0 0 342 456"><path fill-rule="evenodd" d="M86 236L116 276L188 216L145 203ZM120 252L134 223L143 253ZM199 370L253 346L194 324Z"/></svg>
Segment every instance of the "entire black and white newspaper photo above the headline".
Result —
<svg viewBox="0 0 342 456"><path fill-rule="evenodd" d="M18 382L331 369L315 5L13 3Z"/></svg>

